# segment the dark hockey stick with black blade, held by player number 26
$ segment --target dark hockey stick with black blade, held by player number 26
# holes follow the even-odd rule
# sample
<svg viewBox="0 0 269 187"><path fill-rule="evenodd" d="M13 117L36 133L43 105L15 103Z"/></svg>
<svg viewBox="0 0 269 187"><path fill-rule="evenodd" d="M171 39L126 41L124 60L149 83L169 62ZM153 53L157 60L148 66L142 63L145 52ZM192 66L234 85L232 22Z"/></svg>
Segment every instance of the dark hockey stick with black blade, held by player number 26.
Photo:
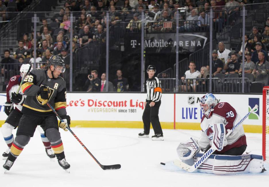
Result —
<svg viewBox="0 0 269 187"><path fill-rule="evenodd" d="M49 104L47 103L47 105L49 106L49 108L55 113L55 115L59 118L59 120L61 122L63 122L63 119L59 116L59 114L55 111L55 109ZM73 133L73 131L67 127L67 129L71 132L71 134L78 140L78 142L80 143L80 145L82 145L82 147L91 155L91 157L93 158L93 160L95 160L95 162L103 169L103 170L117 170L119 168L121 168L120 164L114 164L114 165L102 165L95 157L94 155L92 155L92 153L87 149L87 147L80 141L80 139L75 135L75 133Z"/></svg>

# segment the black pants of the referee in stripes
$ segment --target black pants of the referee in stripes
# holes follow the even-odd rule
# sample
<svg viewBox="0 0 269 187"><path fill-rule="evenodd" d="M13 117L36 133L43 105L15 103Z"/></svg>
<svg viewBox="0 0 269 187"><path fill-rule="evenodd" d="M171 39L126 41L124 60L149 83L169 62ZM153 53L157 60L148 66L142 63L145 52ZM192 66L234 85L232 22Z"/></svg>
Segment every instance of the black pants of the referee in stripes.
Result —
<svg viewBox="0 0 269 187"><path fill-rule="evenodd" d="M150 123L152 124L152 128L154 130L154 134L162 134L162 127L159 121L159 108L161 105L161 101L156 102L154 107L150 107L150 102L146 104L142 119L144 123L144 133L150 133Z"/></svg>

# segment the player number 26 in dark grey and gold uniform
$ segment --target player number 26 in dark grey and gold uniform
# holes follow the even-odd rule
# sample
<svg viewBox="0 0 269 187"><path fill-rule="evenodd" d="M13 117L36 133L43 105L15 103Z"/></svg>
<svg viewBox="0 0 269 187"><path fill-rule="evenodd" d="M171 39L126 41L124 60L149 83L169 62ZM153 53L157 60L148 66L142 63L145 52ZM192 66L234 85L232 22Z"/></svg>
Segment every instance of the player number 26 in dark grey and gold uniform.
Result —
<svg viewBox="0 0 269 187"><path fill-rule="evenodd" d="M3 165L5 170L10 170L16 158L20 155L25 145L33 137L37 125L40 125L45 136L51 142L59 165L68 170L70 165L65 160L63 143L59 127L68 131L70 117L66 113L66 85L60 74L65 71L64 61L61 57L52 55L49 59L48 70L34 69L24 79L22 92L26 95L22 107L15 141L12 143L8 158ZM53 111L46 105L49 102L61 116L64 122L58 121Z"/></svg>

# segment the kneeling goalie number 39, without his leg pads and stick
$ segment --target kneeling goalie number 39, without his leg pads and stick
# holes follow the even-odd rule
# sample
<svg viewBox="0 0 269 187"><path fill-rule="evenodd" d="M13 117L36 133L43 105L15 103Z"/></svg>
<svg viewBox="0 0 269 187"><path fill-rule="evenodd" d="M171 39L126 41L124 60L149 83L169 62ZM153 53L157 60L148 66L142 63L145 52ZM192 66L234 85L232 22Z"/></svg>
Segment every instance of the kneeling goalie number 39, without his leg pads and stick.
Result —
<svg viewBox="0 0 269 187"><path fill-rule="evenodd" d="M242 155L247 147L243 125L235 128L228 137L224 138L223 142L215 141L223 139L222 137L225 137L233 126L241 120L237 111L229 103L217 103L216 97L211 93L201 98L200 106L204 113L200 125L202 129L201 137L198 140L190 138L191 140L181 143L177 149L178 153L182 153L181 145L193 142L197 146L196 148L190 148L192 150L187 157L192 157L200 149L208 150L211 146L212 149L216 150L213 154ZM222 137L218 137L220 134ZM221 146L219 146L220 144Z"/></svg>

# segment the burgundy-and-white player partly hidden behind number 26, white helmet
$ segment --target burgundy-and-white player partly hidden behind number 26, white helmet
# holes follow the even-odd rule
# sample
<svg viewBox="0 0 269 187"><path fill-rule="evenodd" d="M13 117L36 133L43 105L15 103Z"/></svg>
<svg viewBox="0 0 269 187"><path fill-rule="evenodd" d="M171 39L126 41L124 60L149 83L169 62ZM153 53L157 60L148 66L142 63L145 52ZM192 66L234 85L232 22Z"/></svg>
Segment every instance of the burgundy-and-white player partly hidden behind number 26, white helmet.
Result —
<svg viewBox="0 0 269 187"><path fill-rule="evenodd" d="M12 134L13 129L18 127L20 118L22 117L22 104L24 103L25 95L22 94L22 90L20 89L19 93L16 94L19 85L28 72L30 68L30 64L22 64L20 68L20 74L10 78L9 83L7 85L7 102L5 103L5 113L7 114L7 119L5 123L1 127L1 133L4 137L4 140L8 146L8 149L2 154L3 160L7 159L8 153L10 152L10 147L14 141L14 136ZM13 103L12 103L13 102ZM12 108L11 108L12 107ZM11 108L11 112L9 113ZM49 158L55 158L55 154L51 150L51 143L44 135L43 129L38 126L38 131L41 135L41 140L44 144L45 151Z"/></svg>

